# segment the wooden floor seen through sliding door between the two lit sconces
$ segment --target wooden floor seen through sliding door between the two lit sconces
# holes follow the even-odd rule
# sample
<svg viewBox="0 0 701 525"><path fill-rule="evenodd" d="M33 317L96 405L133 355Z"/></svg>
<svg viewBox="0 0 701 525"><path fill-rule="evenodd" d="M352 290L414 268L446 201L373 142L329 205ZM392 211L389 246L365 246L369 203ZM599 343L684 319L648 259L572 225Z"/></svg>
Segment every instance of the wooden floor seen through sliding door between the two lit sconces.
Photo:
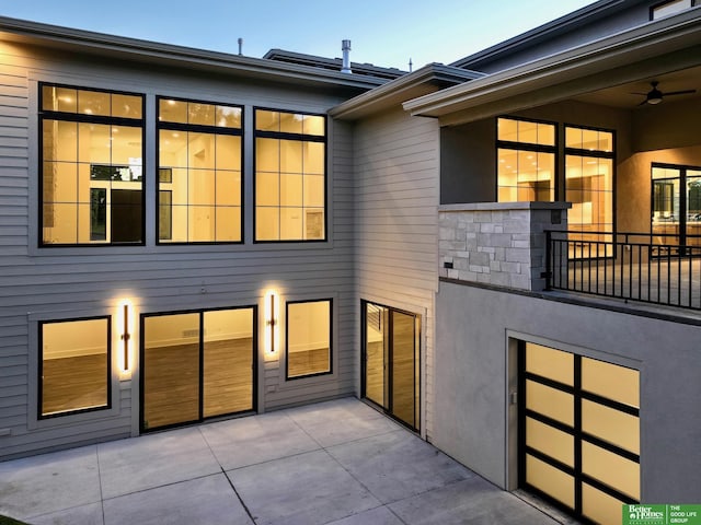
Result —
<svg viewBox="0 0 701 525"><path fill-rule="evenodd" d="M143 424L147 429L197 421L199 416L199 345L145 350ZM205 343L203 417L253 409L253 340Z"/></svg>

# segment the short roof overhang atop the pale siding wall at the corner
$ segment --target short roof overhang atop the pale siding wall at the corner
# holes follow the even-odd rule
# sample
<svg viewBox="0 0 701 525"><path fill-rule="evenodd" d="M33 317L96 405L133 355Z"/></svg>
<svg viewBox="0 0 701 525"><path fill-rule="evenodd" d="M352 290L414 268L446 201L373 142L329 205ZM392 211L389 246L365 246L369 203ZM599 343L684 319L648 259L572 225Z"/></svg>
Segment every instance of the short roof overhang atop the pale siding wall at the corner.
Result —
<svg viewBox="0 0 701 525"><path fill-rule="evenodd" d="M429 63L384 85L355 96L331 108L329 114L338 119L356 120L390 107L401 107L403 102L411 98L482 77L484 73L476 71L444 66L443 63Z"/></svg>

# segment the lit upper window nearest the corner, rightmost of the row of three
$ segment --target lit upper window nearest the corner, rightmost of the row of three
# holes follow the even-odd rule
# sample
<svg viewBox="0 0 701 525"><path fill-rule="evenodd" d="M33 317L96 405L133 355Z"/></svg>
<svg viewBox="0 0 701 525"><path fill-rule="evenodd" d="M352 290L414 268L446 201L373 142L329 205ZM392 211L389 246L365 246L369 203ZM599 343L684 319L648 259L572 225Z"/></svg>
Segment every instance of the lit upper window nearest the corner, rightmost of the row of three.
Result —
<svg viewBox="0 0 701 525"><path fill-rule="evenodd" d="M325 135L323 116L255 110L255 241L326 238Z"/></svg>

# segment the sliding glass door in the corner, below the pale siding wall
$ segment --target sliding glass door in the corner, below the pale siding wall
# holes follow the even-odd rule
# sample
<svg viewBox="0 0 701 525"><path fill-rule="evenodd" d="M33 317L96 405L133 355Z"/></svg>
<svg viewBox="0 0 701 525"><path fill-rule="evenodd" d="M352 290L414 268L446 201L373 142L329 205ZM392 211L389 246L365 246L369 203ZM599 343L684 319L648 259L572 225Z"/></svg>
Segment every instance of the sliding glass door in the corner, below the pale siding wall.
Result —
<svg viewBox="0 0 701 525"><path fill-rule="evenodd" d="M418 316L368 302L363 304L364 397L417 430Z"/></svg>

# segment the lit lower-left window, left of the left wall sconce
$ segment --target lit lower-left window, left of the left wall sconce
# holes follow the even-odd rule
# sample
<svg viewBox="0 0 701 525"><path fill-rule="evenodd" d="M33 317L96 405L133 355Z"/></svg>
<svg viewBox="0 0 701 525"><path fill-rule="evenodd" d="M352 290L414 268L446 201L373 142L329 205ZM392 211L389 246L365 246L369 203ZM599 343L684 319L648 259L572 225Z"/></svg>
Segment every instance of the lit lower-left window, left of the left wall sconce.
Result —
<svg viewBox="0 0 701 525"><path fill-rule="evenodd" d="M39 418L110 408L110 317L39 325Z"/></svg>

